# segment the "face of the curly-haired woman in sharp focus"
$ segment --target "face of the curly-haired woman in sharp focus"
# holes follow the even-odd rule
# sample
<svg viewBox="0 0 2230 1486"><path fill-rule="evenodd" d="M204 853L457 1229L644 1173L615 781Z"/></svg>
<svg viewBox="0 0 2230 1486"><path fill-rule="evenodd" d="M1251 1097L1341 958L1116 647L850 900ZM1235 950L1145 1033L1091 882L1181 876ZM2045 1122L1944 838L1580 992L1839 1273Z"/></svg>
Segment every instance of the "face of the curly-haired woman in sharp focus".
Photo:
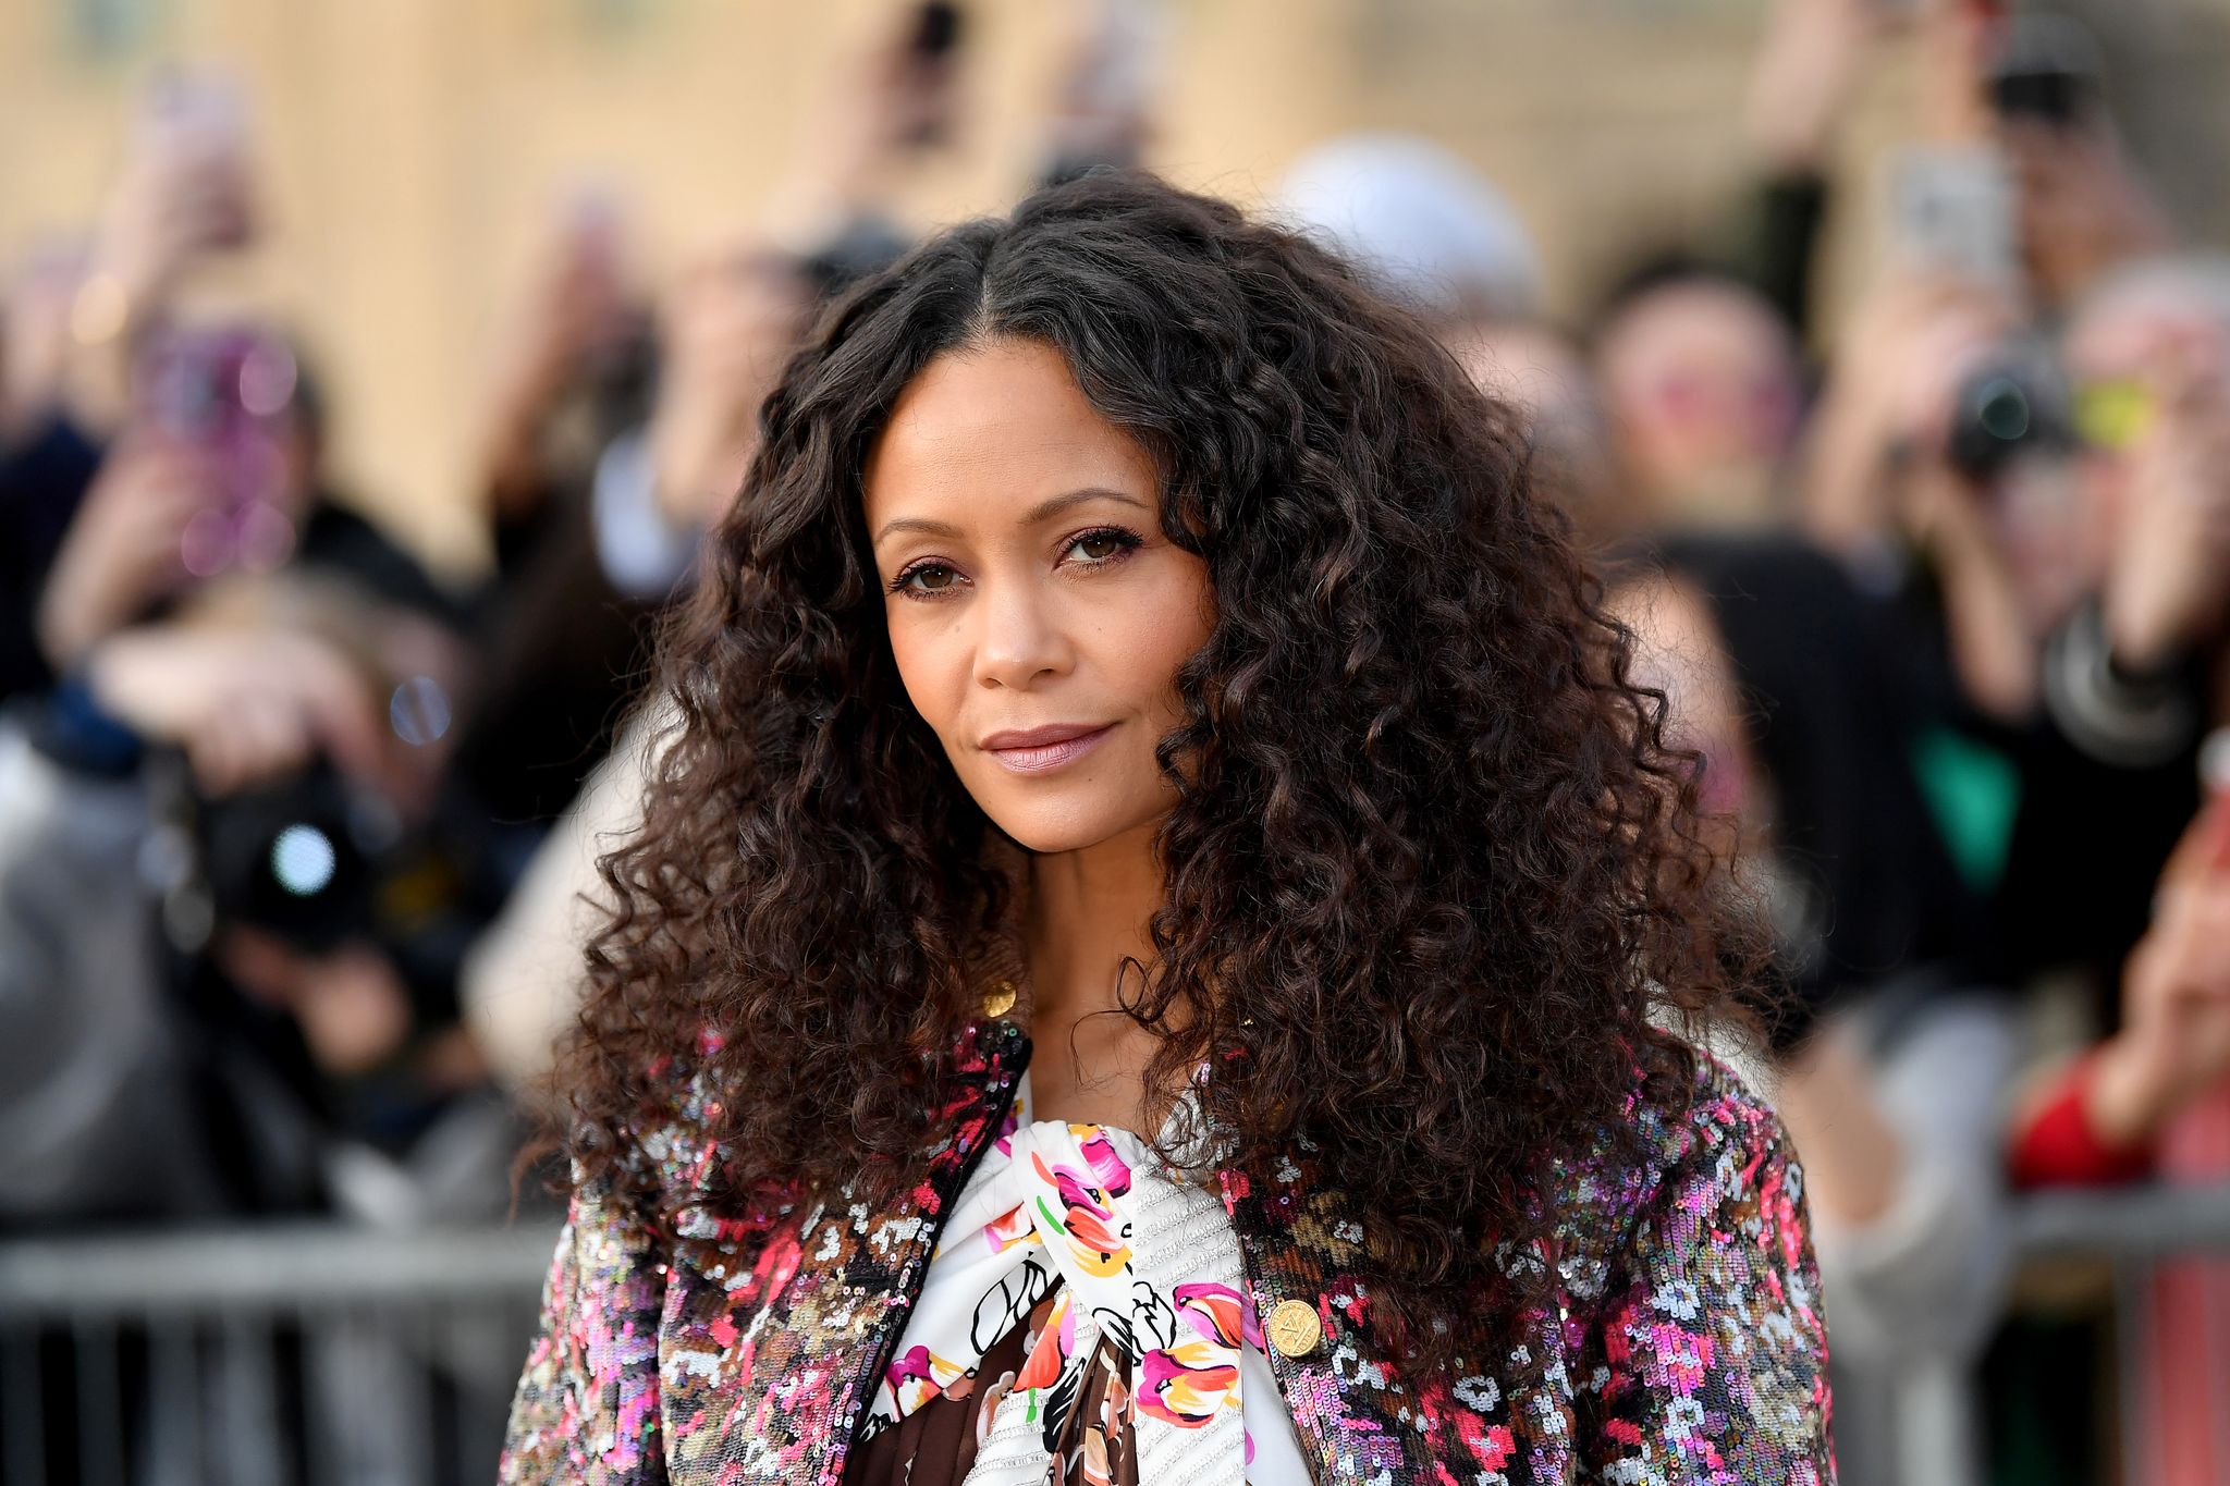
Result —
<svg viewBox="0 0 2230 1486"><path fill-rule="evenodd" d="M1153 746L1209 637L1209 575L1162 535L1153 463L1061 354L997 341L932 361L865 497L905 695L983 813L1030 851L1160 820Z"/></svg>

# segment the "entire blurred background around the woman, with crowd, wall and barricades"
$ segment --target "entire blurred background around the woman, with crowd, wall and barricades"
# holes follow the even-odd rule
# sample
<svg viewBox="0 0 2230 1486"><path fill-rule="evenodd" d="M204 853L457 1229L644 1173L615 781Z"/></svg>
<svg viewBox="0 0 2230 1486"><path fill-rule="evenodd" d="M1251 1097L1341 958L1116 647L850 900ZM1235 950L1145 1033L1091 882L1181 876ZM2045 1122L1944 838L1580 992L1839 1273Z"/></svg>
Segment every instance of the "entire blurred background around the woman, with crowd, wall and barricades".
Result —
<svg viewBox="0 0 2230 1486"><path fill-rule="evenodd" d="M1706 757L1844 1479L2230 1482L2226 62L2230 0L0 0L0 1479L491 1479L756 405L1148 165L1516 405Z"/></svg>

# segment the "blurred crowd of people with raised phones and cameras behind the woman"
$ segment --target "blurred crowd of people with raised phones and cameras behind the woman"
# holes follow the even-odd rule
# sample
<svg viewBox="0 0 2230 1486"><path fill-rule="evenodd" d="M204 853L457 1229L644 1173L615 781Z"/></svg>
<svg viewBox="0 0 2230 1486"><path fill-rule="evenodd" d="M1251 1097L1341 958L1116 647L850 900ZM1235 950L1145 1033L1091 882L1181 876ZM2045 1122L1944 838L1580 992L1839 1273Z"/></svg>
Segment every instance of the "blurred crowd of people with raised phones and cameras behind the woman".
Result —
<svg viewBox="0 0 2230 1486"><path fill-rule="evenodd" d="M290 330L196 303L263 232L223 78L154 89L100 221L7 281L0 1230L504 1214L658 617L787 352L957 147L968 18L894 16L758 225L671 281L615 201L555 214L484 401L471 590L330 483ZM1046 180L1153 158L1151 11L1075 18ZM1884 241L1815 323L1891 47L1922 80ZM2179 241L2067 18L1780 0L1746 120L1722 229L1632 243L1581 319L1429 140L1325 143L1269 209L1521 410L1704 757L1775 927L1753 1056L1804 1156L1844 1479L1896 1479L1922 1359L1982 1370L2018 1479L2090 1479L2096 1308L2007 1321L2005 1219L2230 1179L2230 256ZM2118 1428L2159 1482L2230 1479L2219 1281L2130 1297Z"/></svg>

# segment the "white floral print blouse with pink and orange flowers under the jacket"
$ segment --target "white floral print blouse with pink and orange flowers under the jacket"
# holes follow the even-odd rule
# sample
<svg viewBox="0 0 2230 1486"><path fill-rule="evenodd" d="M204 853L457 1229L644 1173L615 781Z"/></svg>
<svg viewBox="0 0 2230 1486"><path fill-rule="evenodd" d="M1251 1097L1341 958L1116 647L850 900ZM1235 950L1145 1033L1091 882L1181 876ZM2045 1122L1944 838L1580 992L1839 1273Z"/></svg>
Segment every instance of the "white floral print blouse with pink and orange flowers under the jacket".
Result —
<svg viewBox="0 0 2230 1486"><path fill-rule="evenodd" d="M1213 1167L1189 1179L1128 1130L1030 1109L1024 1074L845 1479L1307 1482Z"/></svg>

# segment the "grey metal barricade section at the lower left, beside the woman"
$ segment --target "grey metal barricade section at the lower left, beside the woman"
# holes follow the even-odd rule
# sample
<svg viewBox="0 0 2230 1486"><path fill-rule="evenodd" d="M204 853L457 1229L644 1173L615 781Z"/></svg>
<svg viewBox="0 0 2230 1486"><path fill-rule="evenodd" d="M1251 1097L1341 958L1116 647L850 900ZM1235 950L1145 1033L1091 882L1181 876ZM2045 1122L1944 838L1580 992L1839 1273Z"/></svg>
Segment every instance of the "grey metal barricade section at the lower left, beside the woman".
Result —
<svg viewBox="0 0 2230 1486"><path fill-rule="evenodd" d="M0 1479L482 1486L555 1228L0 1243Z"/></svg>

